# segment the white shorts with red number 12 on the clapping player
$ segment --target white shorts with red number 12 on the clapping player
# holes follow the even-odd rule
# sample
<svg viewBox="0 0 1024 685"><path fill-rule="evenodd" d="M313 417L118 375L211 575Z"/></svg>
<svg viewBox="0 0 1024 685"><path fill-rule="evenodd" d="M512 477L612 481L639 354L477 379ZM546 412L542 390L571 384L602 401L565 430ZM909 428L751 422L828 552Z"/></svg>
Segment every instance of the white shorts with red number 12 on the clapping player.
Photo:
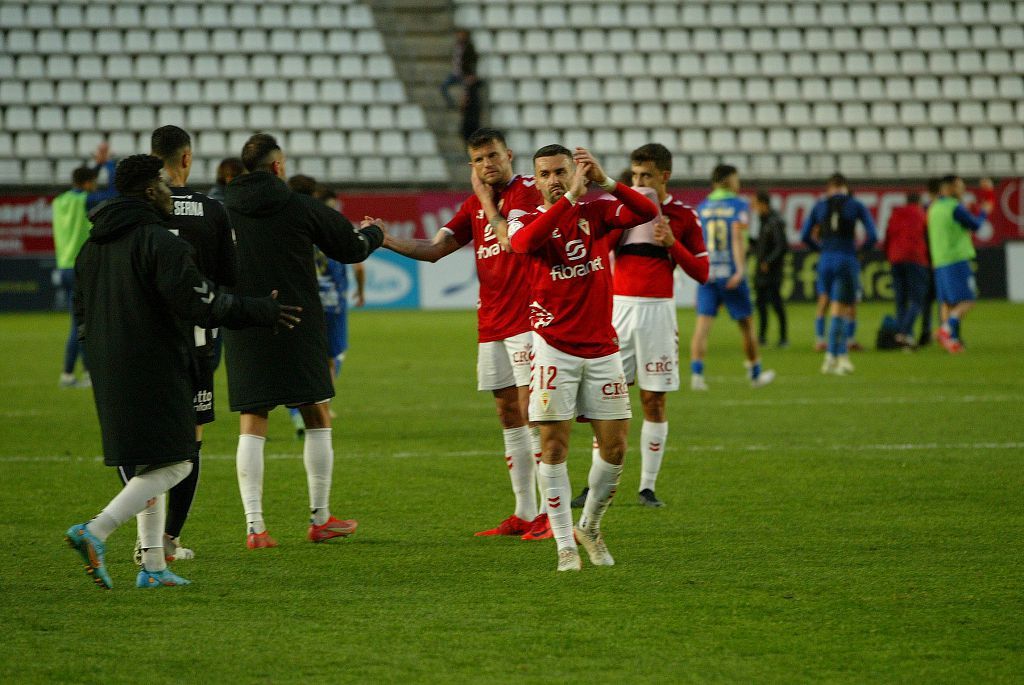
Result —
<svg viewBox="0 0 1024 685"><path fill-rule="evenodd" d="M577 417L612 420L632 416L630 389L618 352L586 359L555 349L534 334L530 421L571 421Z"/></svg>

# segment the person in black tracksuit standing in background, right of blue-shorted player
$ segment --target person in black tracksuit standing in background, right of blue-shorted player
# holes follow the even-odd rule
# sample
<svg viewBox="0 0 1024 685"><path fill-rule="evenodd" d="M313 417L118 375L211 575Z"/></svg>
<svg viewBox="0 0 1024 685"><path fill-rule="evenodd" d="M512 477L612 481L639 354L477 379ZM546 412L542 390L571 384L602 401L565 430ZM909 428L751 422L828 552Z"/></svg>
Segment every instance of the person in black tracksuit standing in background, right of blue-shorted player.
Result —
<svg viewBox="0 0 1024 685"><path fill-rule="evenodd" d="M768 333L768 306L778 316L778 345L788 345L785 326L785 305L779 292L782 287L782 265L790 244L785 239L785 221L771 208L767 192L758 192L753 209L761 217L761 230L755 245L757 270L754 272L754 290L758 298L758 342L765 344Z"/></svg>

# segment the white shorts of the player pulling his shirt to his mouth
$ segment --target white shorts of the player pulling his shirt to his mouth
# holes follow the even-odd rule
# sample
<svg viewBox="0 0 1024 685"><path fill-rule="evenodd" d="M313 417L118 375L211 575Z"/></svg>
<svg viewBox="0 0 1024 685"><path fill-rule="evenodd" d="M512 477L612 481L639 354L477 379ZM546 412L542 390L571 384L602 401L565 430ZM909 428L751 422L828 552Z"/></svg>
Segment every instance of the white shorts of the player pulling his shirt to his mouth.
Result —
<svg viewBox="0 0 1024 685"><path fill-rule="evenodd" d="M651 392L679 389L679 326L673 300L616 295L611 325L618 334L628 383Z"/></svg>

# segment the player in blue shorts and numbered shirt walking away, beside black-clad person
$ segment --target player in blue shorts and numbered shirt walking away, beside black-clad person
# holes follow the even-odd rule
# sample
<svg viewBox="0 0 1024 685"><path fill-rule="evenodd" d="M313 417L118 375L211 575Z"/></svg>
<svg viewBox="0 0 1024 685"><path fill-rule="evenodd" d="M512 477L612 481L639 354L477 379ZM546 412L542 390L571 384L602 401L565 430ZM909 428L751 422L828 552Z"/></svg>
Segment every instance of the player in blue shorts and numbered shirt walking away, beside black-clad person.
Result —
<svg viewBox="0 0 1024 685"><path fill-rule="evenodd" d="M712 192L697 206L703 226L705 243L711 260L708 283L697 286L697 323L690 341L690 389L707 390L703 358L708 352L711 326L724 304L729 315L739 325L746 357L748 378L755 388L775 379L775 372L761 369L758 342L751 316L751 289L746 284L746 231L751 208L740 198L739 172L736 167L720 164L711 177Z"/></svg>

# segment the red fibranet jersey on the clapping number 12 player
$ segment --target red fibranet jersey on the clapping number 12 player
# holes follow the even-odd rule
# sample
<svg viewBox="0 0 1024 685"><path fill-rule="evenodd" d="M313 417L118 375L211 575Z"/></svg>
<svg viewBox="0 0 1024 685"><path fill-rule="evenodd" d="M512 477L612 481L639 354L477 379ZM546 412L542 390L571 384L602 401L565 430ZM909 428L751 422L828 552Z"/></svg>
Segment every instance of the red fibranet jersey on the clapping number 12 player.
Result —
<svg viewBox="0 0 1024 685"><path fill-rule="evenodd" d="M547 211L509 221L512 249L528 255L530 326L552 347L584 358L618 351L609 237L657 215L649 200L622 183L614 196L574 205L561 198Z"/></svg>

